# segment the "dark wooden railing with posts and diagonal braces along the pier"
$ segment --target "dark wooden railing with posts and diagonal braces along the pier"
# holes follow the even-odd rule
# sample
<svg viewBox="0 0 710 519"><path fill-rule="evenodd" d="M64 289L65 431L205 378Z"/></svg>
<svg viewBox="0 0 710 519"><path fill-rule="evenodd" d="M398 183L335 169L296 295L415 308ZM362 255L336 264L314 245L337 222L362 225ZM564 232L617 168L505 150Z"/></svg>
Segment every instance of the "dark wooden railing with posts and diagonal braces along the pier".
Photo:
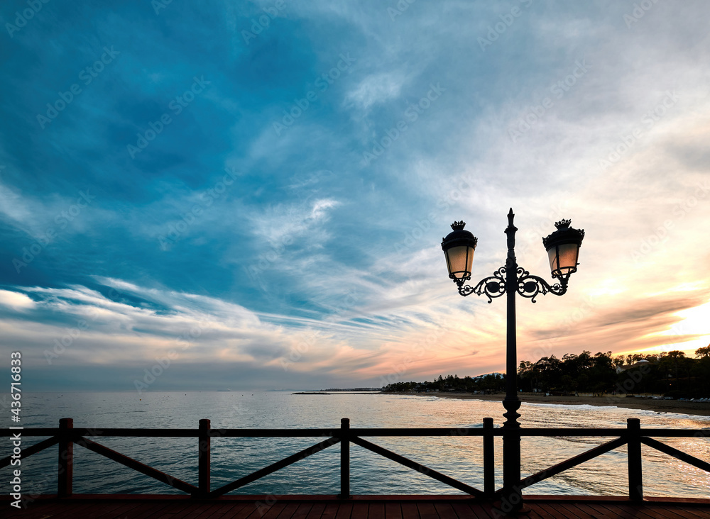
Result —
<svg viewBox="0 0 710 519"><path fill-rule="evenodd" d="M0 430L4 436L10 436L17 430ZM500 498L502 489L495 489L495 457L493 449L493 439L496 436L503 436L505 430L493 427L493 418L484 418L483 428L366 428L351 429L350 420L343 418L340 428L337 429L212 429L209 420L200 420L197 429L125 429L109 428L100 431L87 428L74 428L72 418L62 418L59 420L59 428L27 428L21 430L23 437L28 436L49 436L48 439L38 442L31 447L21 450L21 459L36 454L42 450L59 444L59 468L57 495L59 497L72 496L72 481L74 472L73 448L79 445L88 450L101 454L104 457L119 462L133 470L151 476L158 481L162 481L175 489L188 493L197 498L216 498L225 493L234 491L257 479L271 474L279 469L288 467L290 464L312 456L332 445L340 444L340 497L350 497L350 444L354 443L366 450L370 450L383 457L403 464L405 467L414 469L421 474L430 476L437 481L452 486L471 496L483 499ZM509 432L507 432L509 434ZM652 437L708 437L710 430L705 429L641 429L638 418L628 418L626 428L597 428L597 429L574 429L574 428L521 428L515 432L520 437L543 436L543 437L614 437L613 440L594 447L589 451L578 454L564 462L548 467L536 474L525 477L517 485L520 490L528 486L543 481L547 478L560 474L561 472L576 467L590 459L627 445L627 470L628 470L628 497L633 501L643 500L643 472L641 468L641 445L648 445L653 449L664 452L684 463L710 472L710 463L693 457L690 454L679 451L670 445L666 445ZM135 459L124 454L104 447L97 442L89 440L87 437L197 437L198 439L198 470L197 486L177 479L170 474L149 467L146 464L137 462ZM480 436L483 439L483 476L484 488L476 489L457 479L442 474L430 467L414 462L411 459L391 452L372 442L364 440L363 437L437 437L437 436ZM213 437L326 437L325 440L285 457L263 469L259 469L247 476L231 481L231 483L212 490L210 487L210 444ZM7 467L11 462L11 456L0 460L0 468Z"/></svg>

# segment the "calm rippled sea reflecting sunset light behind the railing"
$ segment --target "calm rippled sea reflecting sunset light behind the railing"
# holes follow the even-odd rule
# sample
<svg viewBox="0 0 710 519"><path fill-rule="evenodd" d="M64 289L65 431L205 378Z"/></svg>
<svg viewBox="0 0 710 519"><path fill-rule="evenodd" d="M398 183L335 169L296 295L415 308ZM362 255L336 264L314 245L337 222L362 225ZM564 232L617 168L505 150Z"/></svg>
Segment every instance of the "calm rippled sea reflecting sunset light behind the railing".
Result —
<svg viewBox="0 0 710 519"><path fill-rule="evenodd" d="M430 396L334 394L303 396L284 392L254 393L99 393L23 394L25 427L57 427L60 418L74 418L75 427L197 428L200 418L212 428L337 428L341 418L351 427L479 428L490 416L500 427L500 402ZM523 404L523 427L625 427L626 418L640 418L642 427L710 428L710 418L638 411L616 407ZM8 420L9 422L9 420ZM368 437L416 462L483 487L480 437ZM196 438L94 437L133 459L197 484ZM215 438L212 440L212 488L229 483L322 438ZM523 475L550 467L611 438L523 438ZM660 438L710 462L710 438ZM38 439L26 437L23 446ZM6 440L7 442L7 440ZM9 444L8 444L9 445ZM501 440L496 438L496 484L502 483ZM710 496L710 475L648 447L643 449L643 483L647 496ZM2 452L9 451L3 447ZM178 493L148 476L75 447L75 493ZM334 494L339 492L339 446L255 481L234 493ZM1 454L5 456L6 454ZM23 460L23 492L55 493L57 450L53 447ZM3 469L9 476L9 468ZM626 495L626 448L535 484L526 493ZM351 491L367 493L459 493L406 467L351 446Z"/></svg>

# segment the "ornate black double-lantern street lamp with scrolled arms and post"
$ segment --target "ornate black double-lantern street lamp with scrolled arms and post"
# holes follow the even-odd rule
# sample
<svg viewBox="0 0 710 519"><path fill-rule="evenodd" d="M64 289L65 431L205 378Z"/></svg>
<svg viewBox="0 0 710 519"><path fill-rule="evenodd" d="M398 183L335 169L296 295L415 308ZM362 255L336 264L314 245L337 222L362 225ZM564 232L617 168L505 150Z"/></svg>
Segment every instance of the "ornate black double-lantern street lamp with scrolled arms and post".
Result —
<svg viewBox="0 0 710 519"><path fill-rule="evenodd" d="M452 233L442 240L442 250L446 257L449 269L449 278L453 279L459 287L461 296L486 294L488 303L493 298L508 294L508 330L506 341L506 398L503 407L506 408L506 422L503 423L503 496L510 506L520 509L523 506L522 489L517 484L520 481L520 423L518 423L518 353L515 337L515 294L532 299L539 294L555 294L562 296L567 292L569 276L577 272L577 259L579 247L584 239L584 230L569 227L569 220L555 223L554 233L542 238L548 258L550 259L550 272L559 283L548 284L545 279L530 274L523 267L518 266L515 259L515 231L513 225L513 209L508 213L508 257L505 267L501 267L493 276L481 279L475 286L465 284L471 280L471 264L478 238L464 230L466 223L454 222L451 225Z"/></svg>

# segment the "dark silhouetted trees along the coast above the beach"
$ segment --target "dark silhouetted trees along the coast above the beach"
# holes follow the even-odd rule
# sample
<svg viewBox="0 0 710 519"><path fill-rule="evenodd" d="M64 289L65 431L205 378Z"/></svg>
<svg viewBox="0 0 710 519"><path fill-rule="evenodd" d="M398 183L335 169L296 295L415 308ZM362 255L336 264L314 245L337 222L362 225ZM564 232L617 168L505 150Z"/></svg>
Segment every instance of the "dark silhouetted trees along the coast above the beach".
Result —
<svg viewBox="0 0 710 519"><path fill-rule="evenodd" d="M424 382L395 382L383 391L505 391L505 374L439 375ZM674 350L657 354L616 355L588 350L524 360L518 367L518 389L550 394L665 394L673 398L710 397L710 345L695 350L695 358Z"/></svg>

